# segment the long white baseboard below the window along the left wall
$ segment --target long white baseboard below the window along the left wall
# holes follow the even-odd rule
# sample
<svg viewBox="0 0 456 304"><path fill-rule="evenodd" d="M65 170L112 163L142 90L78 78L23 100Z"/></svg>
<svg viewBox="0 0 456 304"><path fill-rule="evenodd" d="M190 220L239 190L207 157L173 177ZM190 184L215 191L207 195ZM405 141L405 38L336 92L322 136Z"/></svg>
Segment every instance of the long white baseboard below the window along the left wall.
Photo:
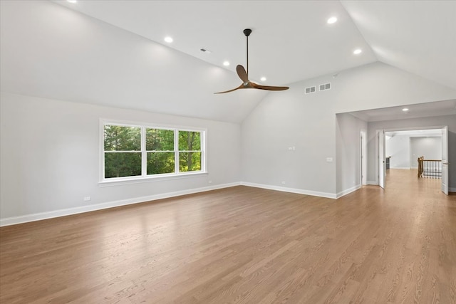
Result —
<svg viewBox="0 0 456 304"><path fill-rule="evenodd" d="M206 191L210 191L210 190L229 188L229 187L239 186L240 184L241 183L239 183L239 182L234 182L234 183L230 183L230 184L219 184L219 185L210 186L210 187L202 187L202 188L188 189L188 190L182 190L182 191L177 191L177 192L169 192L169 193L155 194L155 195L150 195L150 196L135 197L133 199L108 201L108 202L102 203L102 204L93 204L93 205L81 206L81 207L75 207L75 208L60 209L60 210L55 210L55 211L41 212L41 213L37 213L37 214L27 214L24 216L7 217L5 219L0 219L0 227L27 223L29 221L41 221L42 219L52 219L54 217L59 217L59 216L80 214L80 213L84 213L84 212L88 212L88 211L102 210L102 209L108 209L108 208L113 208L113 207L118 207L118 206L138 204L138 203L143 203L145 201L155 201L157 199L167 199L170 197L181 196L181 195L185 195L185 194L194 194L194 193L198 193L198 192L206 192Z"/></svg>

